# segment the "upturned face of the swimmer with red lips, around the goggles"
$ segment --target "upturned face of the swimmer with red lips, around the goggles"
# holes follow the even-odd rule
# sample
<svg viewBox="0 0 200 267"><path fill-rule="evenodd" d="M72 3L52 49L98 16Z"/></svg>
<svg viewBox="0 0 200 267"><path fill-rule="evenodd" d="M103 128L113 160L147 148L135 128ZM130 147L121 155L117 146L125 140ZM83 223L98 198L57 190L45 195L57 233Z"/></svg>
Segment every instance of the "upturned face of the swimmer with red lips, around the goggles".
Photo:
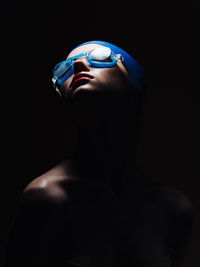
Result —
<svg viewBox="0 0 200 267"><path fill-rule="evenodd" d="M102 47L98 44L88 44L74 49L68 58ZM123 88L130 83L128 73L121 62L111 68L91 67L85 56L74 60L74 73L62 86L61 93L72 97L83 92L115 92L122 93Z"/></svg>

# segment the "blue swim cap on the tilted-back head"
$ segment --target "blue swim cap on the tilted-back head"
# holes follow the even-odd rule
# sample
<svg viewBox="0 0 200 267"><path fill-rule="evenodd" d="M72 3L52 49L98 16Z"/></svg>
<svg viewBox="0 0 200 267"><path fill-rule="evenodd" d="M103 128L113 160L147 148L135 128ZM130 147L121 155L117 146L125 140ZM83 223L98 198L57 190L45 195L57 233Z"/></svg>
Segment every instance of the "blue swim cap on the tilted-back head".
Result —
<svg viewBox="0 0 200 267"><path fill-rule="evenodd" d="M142 66L131 55L129 55L126 51L124 51L120 47L113 45L109 42L104 42L104 41L84 42L84 43L78 45L77 47L87 45L87 44L103 45L103 46L109 47L115 54L121 54L122 57L124 58L124 62L125 62L126 67L128 68L128 71L133 74L137 83L142 88L141 94L143 94L143 96L145 95L146 88L147 88L146 74L145 74ZM75 47L75 48L77 48L77 47ZM130 78L130 80L132 82L133 87L138 89L138 86L136 85L135 81L131 78Z"/></svg>

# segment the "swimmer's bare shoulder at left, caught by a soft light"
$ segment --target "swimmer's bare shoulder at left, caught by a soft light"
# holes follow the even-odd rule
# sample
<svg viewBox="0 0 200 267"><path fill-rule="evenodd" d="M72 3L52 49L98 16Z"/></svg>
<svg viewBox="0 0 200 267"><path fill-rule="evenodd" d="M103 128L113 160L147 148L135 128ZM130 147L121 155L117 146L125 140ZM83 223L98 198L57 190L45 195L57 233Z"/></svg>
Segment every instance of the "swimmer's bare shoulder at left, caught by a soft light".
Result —
<svg viewBox="0 0 200 267"><path fill-rule="evenodd" d="M78 208L84 199L92 199L92 192L91 186L70 170L70 165L61 162L30 182L23 191L22 199L29 203Z"/></svg>

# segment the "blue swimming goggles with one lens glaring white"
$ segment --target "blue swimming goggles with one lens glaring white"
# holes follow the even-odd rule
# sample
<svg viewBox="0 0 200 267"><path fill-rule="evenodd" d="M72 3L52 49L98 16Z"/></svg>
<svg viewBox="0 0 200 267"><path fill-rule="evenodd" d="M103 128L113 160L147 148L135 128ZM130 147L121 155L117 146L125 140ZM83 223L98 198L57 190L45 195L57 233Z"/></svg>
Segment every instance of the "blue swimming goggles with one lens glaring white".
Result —
<svg viewBox="0 0 200 267"><path fill-rule="evenodd" d="M115 54L109 47L100 47L90 52L78 54L54 67L52 78L54 87L60 87L74 73L74 60L83 56L87 57L89 66L95 68L111 68L116 65L117 61L123 61L122 56Z"/></svg>

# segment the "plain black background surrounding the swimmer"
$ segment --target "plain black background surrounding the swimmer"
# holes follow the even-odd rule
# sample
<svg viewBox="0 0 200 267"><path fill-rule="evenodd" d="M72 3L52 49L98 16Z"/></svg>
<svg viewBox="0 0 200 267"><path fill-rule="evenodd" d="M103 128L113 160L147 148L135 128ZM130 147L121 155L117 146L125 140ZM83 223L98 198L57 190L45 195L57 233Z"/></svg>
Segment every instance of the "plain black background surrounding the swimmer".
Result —
<svg viewBox="0 0 200 267"><path fill-rule="evenodd" d="M138 162L192 200L196 219L184 267L200 266L197 1L8 1L0 12L0 264L21 191L62 158L64 118L52 68L77 44L96 39L127 50L147 73Z"/></svg>

